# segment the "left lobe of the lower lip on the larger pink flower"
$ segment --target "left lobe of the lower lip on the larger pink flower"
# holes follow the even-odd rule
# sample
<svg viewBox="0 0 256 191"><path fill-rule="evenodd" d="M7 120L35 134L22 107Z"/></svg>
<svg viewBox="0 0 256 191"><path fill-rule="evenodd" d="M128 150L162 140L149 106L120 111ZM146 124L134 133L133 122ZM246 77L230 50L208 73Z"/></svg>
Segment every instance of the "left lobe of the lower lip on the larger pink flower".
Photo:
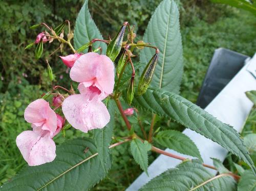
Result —
<svg viewBox="0 0 256 191"><path fill-rule="evenodd" d="M89 98L86 94L74 94L66 98L62 103L62 112L68 122L75 128L87 132L81 118L83 107L88 104Z"/></svg>

